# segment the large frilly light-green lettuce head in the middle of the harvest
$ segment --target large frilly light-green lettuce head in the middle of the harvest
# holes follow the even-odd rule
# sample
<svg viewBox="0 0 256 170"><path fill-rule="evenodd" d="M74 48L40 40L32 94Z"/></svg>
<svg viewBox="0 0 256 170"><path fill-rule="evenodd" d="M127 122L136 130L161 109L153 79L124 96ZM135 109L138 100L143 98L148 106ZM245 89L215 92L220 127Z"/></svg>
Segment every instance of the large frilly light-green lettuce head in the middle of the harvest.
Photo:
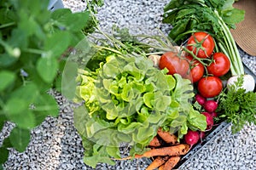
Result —
<svg viewBox="0 0 256 170"><path fill-rule="evenodd" d="M98 65L86 65L77 77L77 99L83 99L84 106L75 111L74 123L83 138L87 165L113 164L113 158L121 158L122 144L131 145L131 156L143 154L160 127L177 133L178 140L189 128L206 129L206 117L191 104L191 82L156 68L144 53L163 52L143 42L129 48L128 42L107 37L112 43L92 45L97 50L91 61L99 61ZM151 38L159 41L160 37Z"/></svg>

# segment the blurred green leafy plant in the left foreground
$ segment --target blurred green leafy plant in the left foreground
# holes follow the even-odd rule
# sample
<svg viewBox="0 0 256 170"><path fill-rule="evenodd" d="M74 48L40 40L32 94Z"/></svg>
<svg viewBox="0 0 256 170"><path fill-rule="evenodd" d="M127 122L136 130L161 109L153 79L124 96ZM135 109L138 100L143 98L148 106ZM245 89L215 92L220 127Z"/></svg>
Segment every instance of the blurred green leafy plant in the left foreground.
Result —
<svg viewBox="0 0 256 170"><path fill-rule="evenodd" d="M84 38L86 26L93 27L88 11L72 13L61 8L51 12L48 4L0 2L0 129L5 122L15 122L0 148L0 164L7 160L8 148L26 150L30 130L46 116L58 115L59 107L47 92L61 90L67 49ZM75 77L76 69L68 76Z"/></svg>

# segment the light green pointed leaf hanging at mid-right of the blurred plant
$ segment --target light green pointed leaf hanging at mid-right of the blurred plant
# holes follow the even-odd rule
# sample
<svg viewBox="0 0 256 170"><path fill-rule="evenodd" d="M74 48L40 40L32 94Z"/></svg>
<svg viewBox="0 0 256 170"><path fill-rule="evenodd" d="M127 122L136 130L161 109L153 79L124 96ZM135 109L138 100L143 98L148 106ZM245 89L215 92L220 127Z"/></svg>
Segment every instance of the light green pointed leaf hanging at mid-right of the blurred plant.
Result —
<svg viewBox="0 0 256 170"><path fill-rule="evenodd" d="M38 59L37 63L37 71L40 77L44 80L44 82L53 82L55 76L57 74L59 65L57 59L42 57Z"/></svg>

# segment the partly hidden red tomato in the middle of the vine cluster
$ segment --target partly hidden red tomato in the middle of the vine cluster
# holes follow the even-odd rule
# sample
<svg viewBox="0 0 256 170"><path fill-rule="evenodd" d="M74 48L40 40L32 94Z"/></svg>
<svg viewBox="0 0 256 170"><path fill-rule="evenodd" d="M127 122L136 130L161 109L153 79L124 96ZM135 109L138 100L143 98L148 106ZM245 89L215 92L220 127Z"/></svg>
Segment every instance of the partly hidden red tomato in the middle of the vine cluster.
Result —
<svg viewBox="0 0 256 170"><path fill-rule="evenodd" d="M193 59L191 56L187 56L187 59L189 61L192 61L191 69L189 72L189 76L191 77L192 82L198 82L201 77L203 77L205 73L205 68L204 66L196 59Z"/></svg>

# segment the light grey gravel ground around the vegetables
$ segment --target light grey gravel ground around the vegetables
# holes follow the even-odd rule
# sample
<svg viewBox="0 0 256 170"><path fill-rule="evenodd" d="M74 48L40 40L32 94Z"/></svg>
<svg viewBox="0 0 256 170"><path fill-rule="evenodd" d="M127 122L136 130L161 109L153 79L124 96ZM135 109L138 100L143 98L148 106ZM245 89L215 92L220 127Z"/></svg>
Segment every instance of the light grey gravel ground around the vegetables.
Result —
<svg viewBox="0 0 256 170"><path fill-rule="evenodd" d="M105 0L97 14L102 30L113 24L127 27L132 34L155 34L155 28L168 31L170 26L161 24L162 8L169 0ZM64 7L73 12L83 10L85 3L79 0L63 0ZM154 7L154 8L152 8ZM244 63L256 74L256 57L241 52ZM32 139L26 151L10 150L6 169L91 169L83 163L81 139L73 126L73 109L61 94L56 94L61 111L57 118L47 117L42 125L32 130ZM14 127L6 123L0 132L0 144ZM100 164L96 169L145 169L148 160L117 161L114 167ZM181 169L255 169L256 127L246 126L240 133L232 134L230 127L199 150Z"/></svg>

